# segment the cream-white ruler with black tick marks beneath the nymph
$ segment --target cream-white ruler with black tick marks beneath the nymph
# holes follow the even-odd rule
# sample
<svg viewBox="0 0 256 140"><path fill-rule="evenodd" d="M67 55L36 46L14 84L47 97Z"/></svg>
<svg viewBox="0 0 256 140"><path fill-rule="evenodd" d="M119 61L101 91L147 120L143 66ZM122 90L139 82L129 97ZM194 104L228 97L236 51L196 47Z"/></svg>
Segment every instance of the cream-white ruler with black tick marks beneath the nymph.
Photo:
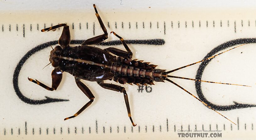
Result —
<svg viewBox="0 0 256 140"><path fill-rule="evenodd" d="M134 59L158 65L160 69L179 68L202 60L208 53L215 54L249 43L203 65L193 65L172 73L174 76L252 86L199 84L172 79L195 96L205 98L237 125L166 82L139 87L122 85L127 90L132 117L137 123L133 127L127 117L122 94L84 80L83 83L95 96L93 104L78 117L63 121L88 102L76 86L74 77L64 73L62 83L53 92L31 83L27 77L51 85L52 66L42 68L49 63L51 47L47 47L48 43L54 47L62 28L55 32L41 32L41 29L67 23L74 46L81 40L102 34L91 4L86 12L73 9L1 13L2 19L5 19L0 24L1 57L4 60L0 81L1 139L179 139L182 137L179 133L189 131L209 135L214 131L221 133L219 139L255 137L254 9L201 8L184 11L179 8L157 10L143 7L121 10L118 7L104 9L98 5L97 8L108 32L114 31L125 40L130 40ZM109 34L106 42L116 40L117 37ZM150 43L152 40L153 43ZM46 47L34 50L24 58L40 45ZM98 47L104 49L108 46L101 44ZM114 47L123 49L118 44ZM25 60L22 66L21 60ZM109 83L120 85L113 81ZM43 102L49 99L62 100Z"/></svg>

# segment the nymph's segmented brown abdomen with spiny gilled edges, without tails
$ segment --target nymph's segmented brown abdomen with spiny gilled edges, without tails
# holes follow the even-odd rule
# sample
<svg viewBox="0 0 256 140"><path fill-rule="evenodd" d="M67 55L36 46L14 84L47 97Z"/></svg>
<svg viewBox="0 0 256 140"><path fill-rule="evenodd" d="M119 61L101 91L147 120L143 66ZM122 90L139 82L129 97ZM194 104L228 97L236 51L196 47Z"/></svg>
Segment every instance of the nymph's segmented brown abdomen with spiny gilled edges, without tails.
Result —
<svg viewBox="0 0 256 140"><path fill-rule="evenodd" d="M157 65L148 62L134 60L125 60L121 57L117 58L117 63L113 63L110 67L111 72L115 75L114 80L121 84L150 84L156 82L164 82L167 77L166 70L156 69Z"/></svg>

